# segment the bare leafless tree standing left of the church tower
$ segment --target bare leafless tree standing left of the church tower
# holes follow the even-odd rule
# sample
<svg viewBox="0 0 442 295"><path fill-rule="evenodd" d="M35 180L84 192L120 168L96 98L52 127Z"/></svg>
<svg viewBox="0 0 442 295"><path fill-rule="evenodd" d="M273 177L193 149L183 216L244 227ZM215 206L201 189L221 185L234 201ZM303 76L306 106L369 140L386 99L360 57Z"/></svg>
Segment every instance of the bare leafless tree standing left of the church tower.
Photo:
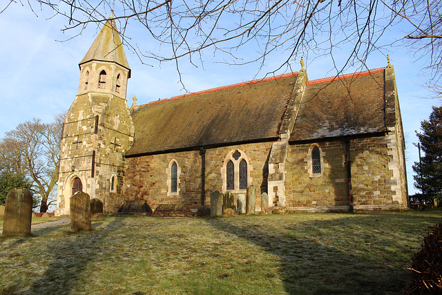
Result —
<svg viewBox="0 0 442 295"><path fill-rule="evenodd" d="M50 124L39 119L21 123L0 142L1 169L26 173L32 180L32 191L41 198L40 212L46 212L51 202L55 202L50 196L58 180L63 119L61 113Z"/></svg>

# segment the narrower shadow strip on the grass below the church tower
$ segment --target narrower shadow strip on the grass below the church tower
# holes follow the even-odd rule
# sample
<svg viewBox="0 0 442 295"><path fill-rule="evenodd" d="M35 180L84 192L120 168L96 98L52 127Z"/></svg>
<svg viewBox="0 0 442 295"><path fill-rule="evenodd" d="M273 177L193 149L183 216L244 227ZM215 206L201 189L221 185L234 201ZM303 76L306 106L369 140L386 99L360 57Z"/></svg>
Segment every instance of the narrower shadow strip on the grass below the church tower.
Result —
<svg viewBox="0 0 442 295"><path fill-rule="evenodd" d="M58 245L45 249L52 253L52 261L26 294L70 294L75 285L88 283L83 281L81 274L88 264L97 259L104 238L118 229L124 219L117 218L100 229L96 228L102 222L93 222L91 231L64 232L65 238L59 239L61 242ZM47 230L42 228L39 231Z"/></svg>

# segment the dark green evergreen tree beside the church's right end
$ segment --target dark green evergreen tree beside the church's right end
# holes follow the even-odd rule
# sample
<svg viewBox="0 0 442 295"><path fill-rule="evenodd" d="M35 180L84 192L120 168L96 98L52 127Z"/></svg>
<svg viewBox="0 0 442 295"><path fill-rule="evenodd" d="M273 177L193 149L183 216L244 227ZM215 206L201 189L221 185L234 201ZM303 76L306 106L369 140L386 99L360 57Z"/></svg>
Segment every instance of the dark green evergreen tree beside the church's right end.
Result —
<svg viewBox="0 0 442 295"><path fill-rule="evenodd" d="M442 201L442 106L433 106L429 120L421 122L421 131L416 131L423 157L421 163L414 162L414 187L420 189L425 201Z"/></svg>

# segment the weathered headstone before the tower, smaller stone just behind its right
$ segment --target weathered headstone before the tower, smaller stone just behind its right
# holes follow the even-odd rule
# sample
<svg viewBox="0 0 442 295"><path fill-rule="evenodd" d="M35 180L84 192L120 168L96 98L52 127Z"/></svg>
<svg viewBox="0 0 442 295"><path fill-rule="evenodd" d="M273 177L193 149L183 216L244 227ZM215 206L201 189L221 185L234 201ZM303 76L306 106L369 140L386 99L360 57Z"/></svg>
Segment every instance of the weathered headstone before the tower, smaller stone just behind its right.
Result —
<svg viewBox="0 0 442 295"><path fill-rule="evenodd" d="M91 229L90 197L84 191L78 191L70 197L70 230Z"/></svg>

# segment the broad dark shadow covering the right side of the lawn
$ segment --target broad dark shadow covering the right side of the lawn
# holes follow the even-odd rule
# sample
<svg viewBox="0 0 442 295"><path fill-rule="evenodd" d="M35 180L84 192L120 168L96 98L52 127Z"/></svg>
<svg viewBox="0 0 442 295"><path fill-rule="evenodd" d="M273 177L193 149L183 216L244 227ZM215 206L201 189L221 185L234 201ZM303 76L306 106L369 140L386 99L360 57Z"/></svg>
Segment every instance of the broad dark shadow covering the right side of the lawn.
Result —
<svg viewBox="0 0 442 295"><path fill-rule="evenodd" d="M401 294L410 278L405 264L416 251L410 245L421 240L415 233L421 230L425 236L429 222L438 221L343 213L335 219L301 222L296 214L291 216L275 218L284 223L273 232L258 218L253 222L253 216L244 217L244 226L229 218L207 222L278 256L278 276L288 294Z"/></svg>

